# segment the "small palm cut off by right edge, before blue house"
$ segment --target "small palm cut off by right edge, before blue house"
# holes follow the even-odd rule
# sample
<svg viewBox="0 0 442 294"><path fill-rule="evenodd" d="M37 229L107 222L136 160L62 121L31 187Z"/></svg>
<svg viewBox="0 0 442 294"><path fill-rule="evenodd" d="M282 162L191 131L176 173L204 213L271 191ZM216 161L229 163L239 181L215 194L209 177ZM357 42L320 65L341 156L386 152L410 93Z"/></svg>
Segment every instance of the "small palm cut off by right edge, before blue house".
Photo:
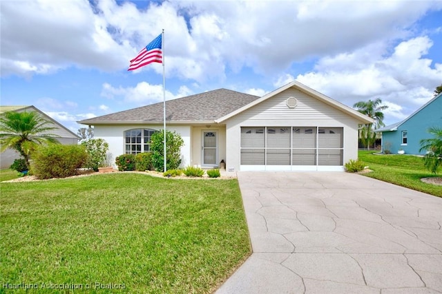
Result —
<svg viewBox="0 0 442 294"><path fill-rule="evenodd" d="M424 165L433 174L437 174L439 165L442 165L442 128L430 127L427 132L434 138L422 139L419 151L427 151L427 154L423 156Z"/></svg>

